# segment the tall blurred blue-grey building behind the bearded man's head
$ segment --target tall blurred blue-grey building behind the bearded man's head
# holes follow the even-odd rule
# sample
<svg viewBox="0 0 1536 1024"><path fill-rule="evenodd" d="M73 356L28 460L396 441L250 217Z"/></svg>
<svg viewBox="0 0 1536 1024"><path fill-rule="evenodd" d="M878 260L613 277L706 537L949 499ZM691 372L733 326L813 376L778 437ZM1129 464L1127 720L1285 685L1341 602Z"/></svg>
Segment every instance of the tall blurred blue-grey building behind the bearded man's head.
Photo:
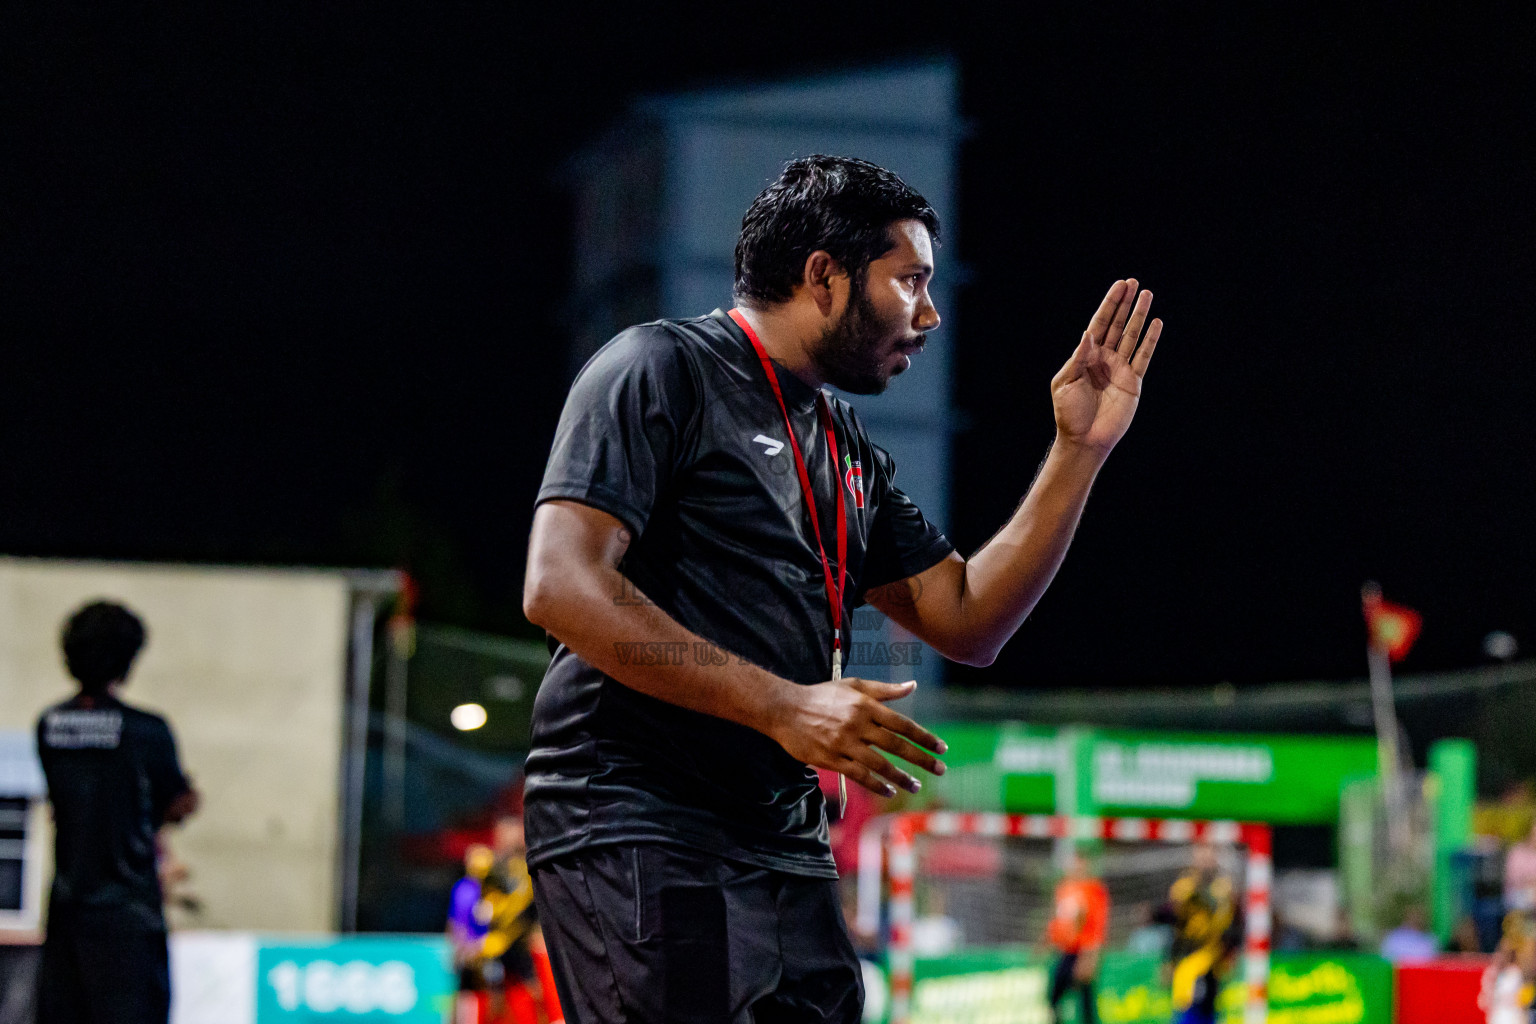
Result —
<svg viewBox="0 0 1536 1024"><path fill-rule="evenodd" d="M948 60L637 101L570 166L571 376L631 324L731 307L742 213L785 161L809 154L871 160L902 175L938 210L943 246L931 293L943 327L889 391L851 401L876 442L895 456L900 487L946 527L958 338L958 69ZM854 629L856 642L911 642L869 609L860 611ZM934 683L942 660L923 649L917 666L849 671Z"/></svg>

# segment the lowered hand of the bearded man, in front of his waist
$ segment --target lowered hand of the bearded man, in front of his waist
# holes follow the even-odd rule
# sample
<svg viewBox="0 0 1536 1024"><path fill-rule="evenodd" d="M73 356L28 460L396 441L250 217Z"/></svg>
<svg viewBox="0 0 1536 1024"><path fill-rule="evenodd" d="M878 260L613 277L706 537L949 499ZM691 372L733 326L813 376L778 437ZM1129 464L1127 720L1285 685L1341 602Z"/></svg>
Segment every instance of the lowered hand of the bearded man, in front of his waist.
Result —
<svg viewBox="0 0 1536 1024"><path fill-rule="evenodd" d="M922 783L876 749L934 775L945 774L943 761L928 752L943 754L945 742L885 706L914 686L854 677L813 686L788 683L768 734L796 760L842 772L877 797L894 797L897 786L917 792Z"/></svg>

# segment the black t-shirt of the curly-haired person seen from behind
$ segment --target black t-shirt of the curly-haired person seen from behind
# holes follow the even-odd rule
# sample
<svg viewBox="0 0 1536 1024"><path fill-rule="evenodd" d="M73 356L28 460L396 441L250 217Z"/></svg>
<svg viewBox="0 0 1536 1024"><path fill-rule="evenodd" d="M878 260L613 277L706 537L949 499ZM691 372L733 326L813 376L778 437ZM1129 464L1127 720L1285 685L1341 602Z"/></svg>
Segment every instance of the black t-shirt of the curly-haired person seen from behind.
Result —
<svg viewBox="0 0 1536 1024"><path fill-rule="evenodd" d="M164 929L155 832L189 789L170 726L115 697L74 697L37 722L54 806L55 904Z"/></svg>

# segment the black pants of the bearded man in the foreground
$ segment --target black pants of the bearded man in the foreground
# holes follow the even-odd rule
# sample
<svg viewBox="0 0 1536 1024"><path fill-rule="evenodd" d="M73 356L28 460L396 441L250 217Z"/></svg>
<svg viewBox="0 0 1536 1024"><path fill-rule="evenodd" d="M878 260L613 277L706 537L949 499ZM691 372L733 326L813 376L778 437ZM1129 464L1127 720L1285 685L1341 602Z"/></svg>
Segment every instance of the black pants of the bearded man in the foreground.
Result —
<svg viewBox="0 0 1536 1024"><path fill-rule="evenodd" d="M538 866L570 1024L857 1024L863 976L837 883L662 844Z"/></svg>

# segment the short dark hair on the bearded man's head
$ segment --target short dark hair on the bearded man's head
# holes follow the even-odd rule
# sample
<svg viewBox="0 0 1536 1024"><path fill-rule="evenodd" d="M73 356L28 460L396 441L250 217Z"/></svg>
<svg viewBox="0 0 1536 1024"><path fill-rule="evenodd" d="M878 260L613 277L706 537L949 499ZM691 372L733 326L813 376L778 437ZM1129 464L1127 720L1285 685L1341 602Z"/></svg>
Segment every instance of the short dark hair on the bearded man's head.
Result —
<svg viewBox="0 0 1536 1024"><path fill-rule="evenodd" d="M895 247L891 224L906 220L922 221L938 244L938 213L885 167L852 157L791 160L742 218L736 299L790 299L819 249L862 286L869 263Z"/></svg>

